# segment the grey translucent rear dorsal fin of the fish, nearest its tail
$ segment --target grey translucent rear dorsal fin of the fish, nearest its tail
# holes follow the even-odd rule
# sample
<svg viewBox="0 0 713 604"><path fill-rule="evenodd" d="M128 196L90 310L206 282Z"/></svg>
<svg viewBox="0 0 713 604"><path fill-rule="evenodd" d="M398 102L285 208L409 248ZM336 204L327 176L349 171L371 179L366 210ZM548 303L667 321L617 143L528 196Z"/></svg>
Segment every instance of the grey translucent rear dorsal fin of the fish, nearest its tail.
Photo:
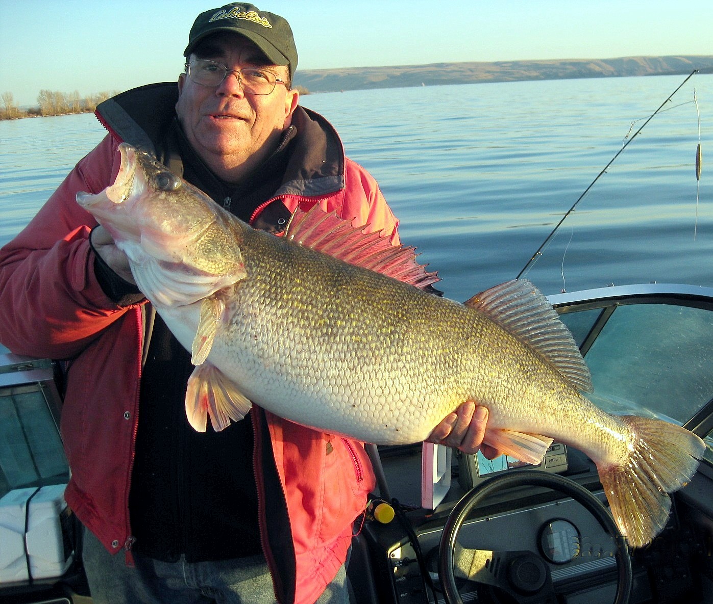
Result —
<svg viewBox="0 0 713 604"><path fill-rule="evenodd" d="M577 390L593 390L589 368L570 330L530 281L507 281L476 293L465 304L543 355Z"/></svg>

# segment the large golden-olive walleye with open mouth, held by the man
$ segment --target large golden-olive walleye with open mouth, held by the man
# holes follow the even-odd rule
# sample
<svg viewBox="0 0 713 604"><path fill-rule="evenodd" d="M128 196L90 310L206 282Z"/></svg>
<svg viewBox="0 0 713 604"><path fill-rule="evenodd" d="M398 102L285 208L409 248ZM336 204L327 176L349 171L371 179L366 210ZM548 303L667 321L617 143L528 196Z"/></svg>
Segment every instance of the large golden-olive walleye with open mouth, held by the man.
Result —
<svg viewBox="0 0 713 604"><path fill-rule="evenodd" d="M691 479L702 440L580 394L589 370L531 283L462 304L439 298L423 291L436 275L388 237L319 207L295 212L282 238L257 231L152 157L120 152L116 181L77 201L193 353L195 429L207 417L224 429L252 401L324 432L402 444L475 400L490 411L486 442L502 452L538 463L557 439L588 454L632 546L665 526L668 493Z"/></svg>

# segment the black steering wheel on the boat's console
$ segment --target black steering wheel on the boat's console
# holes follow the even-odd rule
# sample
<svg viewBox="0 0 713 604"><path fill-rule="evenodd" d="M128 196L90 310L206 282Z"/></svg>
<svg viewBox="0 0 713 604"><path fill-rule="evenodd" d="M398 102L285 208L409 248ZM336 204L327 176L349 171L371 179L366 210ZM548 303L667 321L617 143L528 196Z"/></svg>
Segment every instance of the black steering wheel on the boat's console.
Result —
<svg viewBox="0 0 713 604"><path fill-rule="evenodd" d="M486 480L468 491L451 511L443 527L438 551L438 577L443 586L446 604L463 604L456 586L454 566L468 580L491 585L505 591L518 604L556 603L550 569L543 559L531 551L493 552L463 548L457 543L458 532L468 513L488 495L513 486L544 486L559 491L577 501L592 514L616 544L617 593L614 604L629 601L632 585L631 559L626 539L614 524L607 508L583 486L557 474L537 470L518 470Z"/></svg>

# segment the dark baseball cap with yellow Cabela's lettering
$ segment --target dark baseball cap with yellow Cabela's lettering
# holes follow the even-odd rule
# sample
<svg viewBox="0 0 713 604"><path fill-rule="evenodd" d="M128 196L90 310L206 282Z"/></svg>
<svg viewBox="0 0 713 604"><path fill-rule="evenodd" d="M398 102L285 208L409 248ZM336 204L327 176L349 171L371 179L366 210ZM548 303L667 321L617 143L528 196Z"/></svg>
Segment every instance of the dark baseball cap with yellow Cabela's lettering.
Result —
<svg viewBox="0 0 713 604"><path fill-rule="evenodd" d="M245 36L260 48L275 65L287 65L292 77L297 68L297 47L292 28L281 16L261 11L252 4L232 2L220 9L198 15L188 34L188 46L183 56L188 57L195 45L218 31L232 31Z"/></svg>

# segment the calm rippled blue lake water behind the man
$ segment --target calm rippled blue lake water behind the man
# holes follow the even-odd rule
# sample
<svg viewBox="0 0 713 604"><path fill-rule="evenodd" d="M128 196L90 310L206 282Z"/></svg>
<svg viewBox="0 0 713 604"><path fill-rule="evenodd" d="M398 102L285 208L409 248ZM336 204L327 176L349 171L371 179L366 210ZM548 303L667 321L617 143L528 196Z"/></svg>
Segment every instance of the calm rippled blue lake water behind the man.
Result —
<svg viewBox="0 0 713 604"><path fill-rule="evenodd" d="M381 184L401 239L464 300L514 278L685 76L359 90L303 97ZM694 174L698 142L702 177ZM694 75L565 220L527 276L545 293L713 286L713 75ZM0 122L0 244L101 140L93 115ZM695 237L694 237L695 233Z"/></svg>

